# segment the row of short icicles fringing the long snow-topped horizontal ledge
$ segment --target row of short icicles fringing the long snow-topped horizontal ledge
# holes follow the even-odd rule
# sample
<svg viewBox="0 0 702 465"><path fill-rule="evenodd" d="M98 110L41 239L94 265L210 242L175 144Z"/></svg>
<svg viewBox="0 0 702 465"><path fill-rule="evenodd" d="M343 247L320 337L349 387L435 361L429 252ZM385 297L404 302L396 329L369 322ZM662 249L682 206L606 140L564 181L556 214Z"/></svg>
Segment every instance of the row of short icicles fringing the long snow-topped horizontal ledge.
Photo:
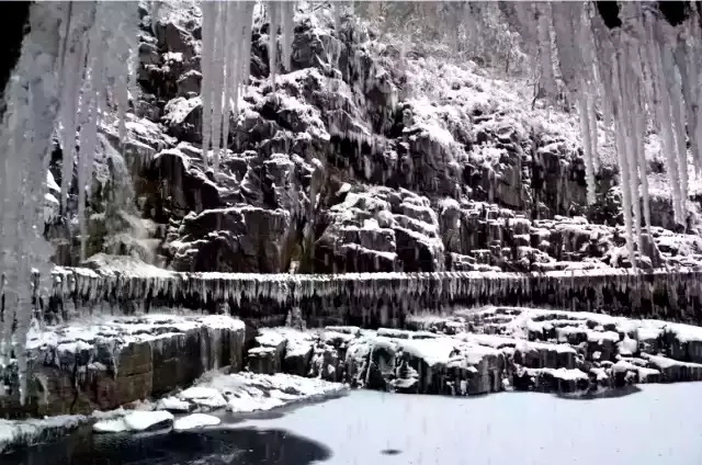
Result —
<svg viewBox="0 0 702 465"><path fill-rule="evenodd" d="M113 305L117 297L121 300L166 300L170 302L169 305L188 302L192 309L207 307L213 302L247 308L246 302L267 299L281 306L279 308L287 308L303 303L333 302L343 296L349 303L362 303L352 305L350 310L364 318L375 311L374 304L380 300L392 303L394 310L405 313L445 309L452 305L505 305L512 302L580 310L605 308L613 314L629 314L632 305L645 299L648 304L641 308L642 315L654 316L665 311L667 319L689 320L691 315L687 311L702 303L702 272L692 269L649 273L632 269L592 269L532 273L452 271L330 275L186 273L155 266L125 269L105 265L99 270L56 268L54 282L56 297L67 303L82 302L83 305ZM667 295L667 299L659 300L661 295Z"/></svg>

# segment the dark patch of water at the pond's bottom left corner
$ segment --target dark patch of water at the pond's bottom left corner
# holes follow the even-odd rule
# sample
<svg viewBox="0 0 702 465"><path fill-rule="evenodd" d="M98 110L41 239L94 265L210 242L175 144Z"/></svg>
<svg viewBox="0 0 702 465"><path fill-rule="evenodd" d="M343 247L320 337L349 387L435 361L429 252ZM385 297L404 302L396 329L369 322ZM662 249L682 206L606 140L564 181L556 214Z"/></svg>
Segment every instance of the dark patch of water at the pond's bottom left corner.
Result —
<svg viewBox="0 0 702 465"><path fill-rule="evenodd" d="M73 434L0 458L2 465L307 465L326 461L324 444L286 430L253 428L170 434Z"/></svg>

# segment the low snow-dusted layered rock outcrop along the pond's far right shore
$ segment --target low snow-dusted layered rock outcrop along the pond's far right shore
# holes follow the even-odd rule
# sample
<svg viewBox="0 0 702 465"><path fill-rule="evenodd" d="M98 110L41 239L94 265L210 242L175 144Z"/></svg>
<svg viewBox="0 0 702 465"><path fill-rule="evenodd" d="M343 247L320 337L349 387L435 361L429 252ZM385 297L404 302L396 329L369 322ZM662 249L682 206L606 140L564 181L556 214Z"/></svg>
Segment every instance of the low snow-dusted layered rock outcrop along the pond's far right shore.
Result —
<svg viewBox="0 0 702 465"><path fill-rule="evenodd" d="M352 387L455 396L541 390L598 396L702 381L699 327L517 307L414 316L408 329L261 329L249 360ZM296 363L286 363L294 359Z"/></svg>

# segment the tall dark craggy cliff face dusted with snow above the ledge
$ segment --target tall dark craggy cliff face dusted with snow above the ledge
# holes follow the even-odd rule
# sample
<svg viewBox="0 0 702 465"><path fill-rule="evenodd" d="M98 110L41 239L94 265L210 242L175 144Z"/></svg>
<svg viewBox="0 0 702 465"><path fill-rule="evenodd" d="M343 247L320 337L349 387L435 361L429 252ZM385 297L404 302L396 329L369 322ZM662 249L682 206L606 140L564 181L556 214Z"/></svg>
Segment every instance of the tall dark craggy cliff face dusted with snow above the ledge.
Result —
<svg viewBox="0 0 702 465"><path fill-rule="evenodd" d="M102 131L89 254L251 273L632 265L607 160L598 203L586 206L575 116L529 111L518 86L473 64L400 60L353 18L337 30L322 12L296 16L292 69L278 70L275 88L269 25L256 24L251 84L214 173L200 149L199 10L180 2L158 21L143 10L143 92L124 150L115 127ZM55 155L49 178L59 179ZM75 265L73 215L52 199L55 261ZM695 216L689 235L665 229L676 225L669 200L658 203L637 265L697 263Z"/></svg>

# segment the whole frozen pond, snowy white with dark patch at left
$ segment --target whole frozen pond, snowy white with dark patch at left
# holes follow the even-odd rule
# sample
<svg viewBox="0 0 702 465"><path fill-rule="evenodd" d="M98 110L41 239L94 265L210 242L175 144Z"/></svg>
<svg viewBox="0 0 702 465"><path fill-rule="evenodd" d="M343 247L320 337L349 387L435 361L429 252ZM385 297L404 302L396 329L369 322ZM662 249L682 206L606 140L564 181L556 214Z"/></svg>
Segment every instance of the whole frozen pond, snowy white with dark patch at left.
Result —
<svg viewBox="0 0 702 465"><path fill-rule="evenodd" d="M702 463L702 383L647 385L636 394L596 400L532 393L456 398L360 390L278 417L207 433L78 434L3 456L0 463Z"/></svg>

